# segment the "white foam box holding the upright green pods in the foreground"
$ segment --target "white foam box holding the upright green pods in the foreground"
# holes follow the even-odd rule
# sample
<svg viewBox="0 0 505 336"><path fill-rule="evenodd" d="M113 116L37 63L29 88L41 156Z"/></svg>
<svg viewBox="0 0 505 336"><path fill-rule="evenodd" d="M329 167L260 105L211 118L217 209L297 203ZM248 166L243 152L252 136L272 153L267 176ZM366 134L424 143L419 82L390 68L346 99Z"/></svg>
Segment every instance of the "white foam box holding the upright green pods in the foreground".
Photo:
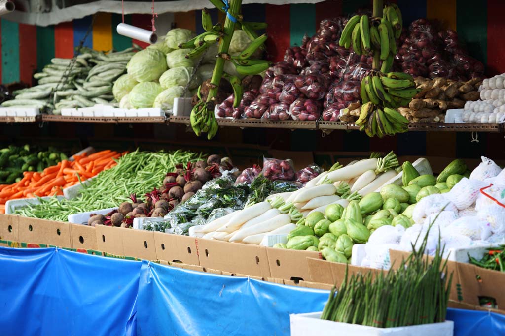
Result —
<svg viewBox="0 0 505 336"><path fill-rule="evenodd" d="M334 322L321 319L321 312L291 314L291 336L452 336L454 322L428 323L395 328L376 328L360 324Z"/></svg>

